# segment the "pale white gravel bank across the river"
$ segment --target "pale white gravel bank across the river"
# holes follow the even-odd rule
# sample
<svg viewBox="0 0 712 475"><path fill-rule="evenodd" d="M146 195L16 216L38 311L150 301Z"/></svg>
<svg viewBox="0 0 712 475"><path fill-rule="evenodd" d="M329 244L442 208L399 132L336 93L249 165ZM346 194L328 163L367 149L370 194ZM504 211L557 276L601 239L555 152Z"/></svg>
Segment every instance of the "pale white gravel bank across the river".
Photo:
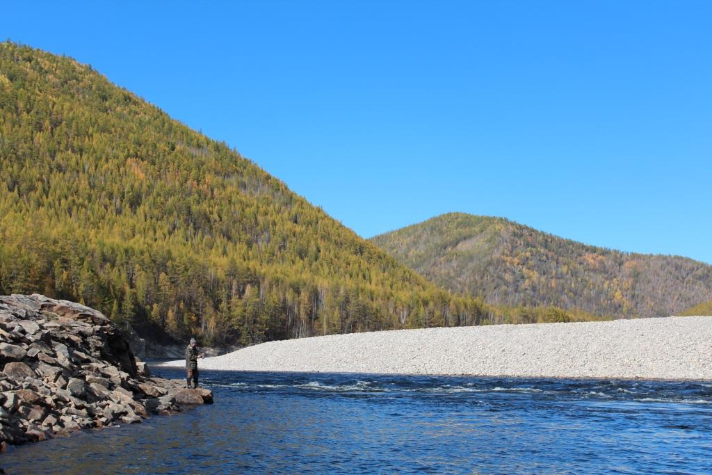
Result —
<svg viewBox="0 0 712 475"><path fill-rule="evenodd" d="M199 368L712 380L712 317L329 335L243 348Z"/></svg>

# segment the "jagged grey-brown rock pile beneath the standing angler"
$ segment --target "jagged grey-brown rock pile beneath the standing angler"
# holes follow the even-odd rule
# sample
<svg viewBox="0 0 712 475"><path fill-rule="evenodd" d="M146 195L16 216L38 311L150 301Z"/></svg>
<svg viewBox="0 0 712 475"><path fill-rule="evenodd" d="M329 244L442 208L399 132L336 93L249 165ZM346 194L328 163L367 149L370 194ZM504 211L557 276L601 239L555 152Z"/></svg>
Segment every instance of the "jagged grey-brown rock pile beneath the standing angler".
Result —
<svg viewBox="0 0 712 475"><path fill-rule="evenodd" d="M102 313L38 294L0 296L0 370L0 451L212 402L150 377Z"/></svg>

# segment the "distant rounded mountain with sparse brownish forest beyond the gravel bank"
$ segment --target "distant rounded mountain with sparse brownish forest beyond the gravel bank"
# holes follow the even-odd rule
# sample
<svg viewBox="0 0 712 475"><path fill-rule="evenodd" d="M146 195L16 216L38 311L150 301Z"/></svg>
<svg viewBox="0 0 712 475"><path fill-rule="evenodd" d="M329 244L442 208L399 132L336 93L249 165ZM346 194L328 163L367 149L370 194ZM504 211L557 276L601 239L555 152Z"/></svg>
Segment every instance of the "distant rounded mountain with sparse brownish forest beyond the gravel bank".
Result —
<svg viewBox="0 0 712 475"><path fill-rule="evenodd" d="M425 278L491 304L628 318L712 298L708 264L588 246L502 218L443 214L371 241Z"/></svg>

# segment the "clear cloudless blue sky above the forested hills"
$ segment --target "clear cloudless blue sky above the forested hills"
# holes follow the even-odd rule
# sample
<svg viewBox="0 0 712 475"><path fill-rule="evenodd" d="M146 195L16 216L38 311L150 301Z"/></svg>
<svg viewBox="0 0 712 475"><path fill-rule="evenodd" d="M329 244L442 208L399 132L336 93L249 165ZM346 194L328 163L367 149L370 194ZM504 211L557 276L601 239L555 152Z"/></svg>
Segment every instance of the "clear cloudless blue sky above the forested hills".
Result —
<svg viewBox="0 0 712 475"><path fill-rule="evenodd" d="M459 211L712 263L712 1L65 3L7 2L0 37L362 236Z"/></svg>

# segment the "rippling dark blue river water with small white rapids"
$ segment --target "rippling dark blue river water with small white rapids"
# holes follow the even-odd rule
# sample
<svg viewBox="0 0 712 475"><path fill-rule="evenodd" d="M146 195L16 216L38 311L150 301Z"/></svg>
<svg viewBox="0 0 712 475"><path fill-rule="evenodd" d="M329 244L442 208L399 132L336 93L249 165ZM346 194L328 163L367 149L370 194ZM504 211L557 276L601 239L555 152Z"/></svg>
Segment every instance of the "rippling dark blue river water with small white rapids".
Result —
<svg viewBox="0 0 712 475"><path fill-rule="evenodd" d="M83 475L712 473L707 382L201 377L214 405L11 447L0 466Z"/></svg>

